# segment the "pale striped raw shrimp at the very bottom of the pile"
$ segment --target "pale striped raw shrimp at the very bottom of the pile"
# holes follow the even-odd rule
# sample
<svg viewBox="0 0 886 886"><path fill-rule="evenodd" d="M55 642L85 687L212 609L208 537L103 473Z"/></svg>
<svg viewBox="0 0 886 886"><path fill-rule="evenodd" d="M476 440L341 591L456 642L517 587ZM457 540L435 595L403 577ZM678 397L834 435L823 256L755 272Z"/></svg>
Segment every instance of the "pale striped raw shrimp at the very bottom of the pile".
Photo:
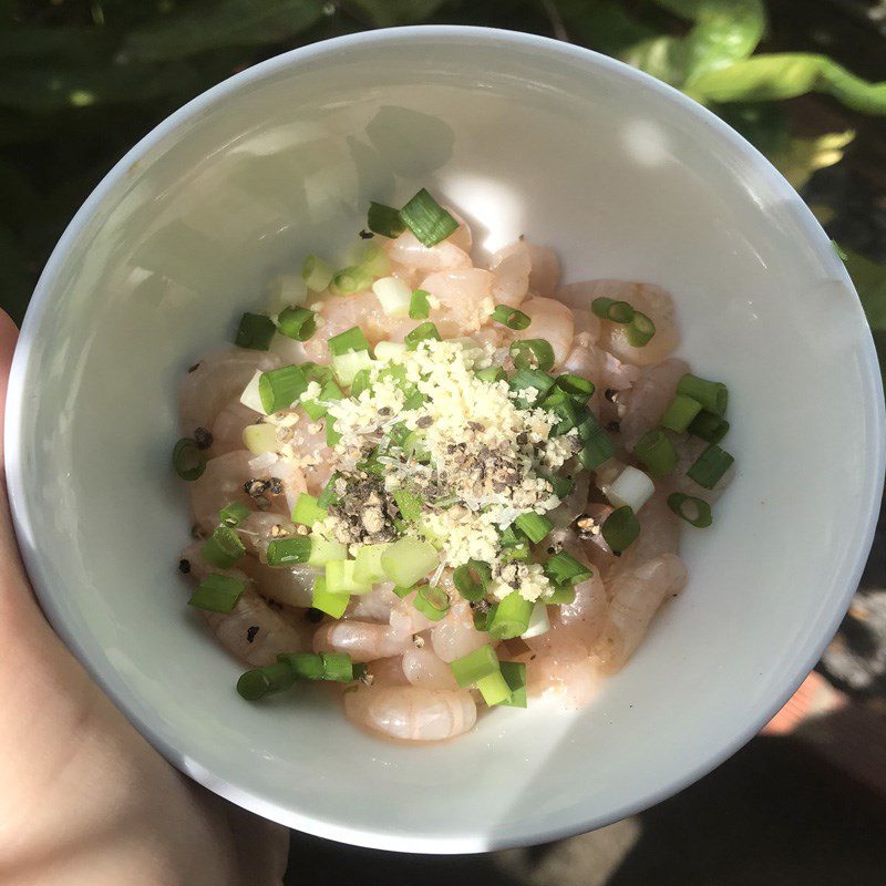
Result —
<svg viewBox="0 0 886 886"><path fill-rule="evenodd" d="M466 689L360 686L344 694L344 713L364 729L405 741L445 741L467 732L477 719Z"/></svg>

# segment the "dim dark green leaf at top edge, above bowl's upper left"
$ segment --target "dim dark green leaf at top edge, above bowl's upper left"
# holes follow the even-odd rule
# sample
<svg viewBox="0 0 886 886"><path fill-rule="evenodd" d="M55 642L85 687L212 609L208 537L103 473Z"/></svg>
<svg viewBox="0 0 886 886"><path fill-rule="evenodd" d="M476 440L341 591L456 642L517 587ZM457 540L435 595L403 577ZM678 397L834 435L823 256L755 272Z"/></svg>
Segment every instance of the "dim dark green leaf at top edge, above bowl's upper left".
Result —
<svg viewBox="0 0 886 886"><path fill-rule="evenodd" d="M321 0L204 0L133 31L122 51L128 59L148 62L225 47L264 47L301 33L322 14Z"/></svg>

